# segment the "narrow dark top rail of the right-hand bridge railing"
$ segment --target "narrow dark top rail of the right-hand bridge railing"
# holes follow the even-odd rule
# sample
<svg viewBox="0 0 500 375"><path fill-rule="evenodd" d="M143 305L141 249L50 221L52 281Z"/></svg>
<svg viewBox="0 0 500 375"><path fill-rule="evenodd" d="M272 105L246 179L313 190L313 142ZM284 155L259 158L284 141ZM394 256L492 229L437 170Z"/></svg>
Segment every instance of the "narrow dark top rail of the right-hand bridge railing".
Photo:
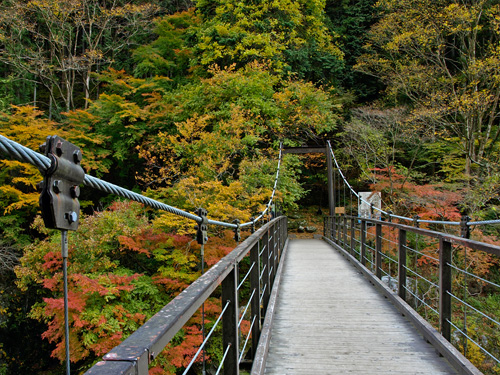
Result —
<svg viewBox="0 0 500 375"><path fill-rule="evenodd" d="M332 216L327 216L327 217L332 217ZM454 236L452 234L437 232L437 231L433 231L430 229L412 227L410 225L400 224L400 223L393 223L390 221L368 219L368 218L363 218L363 217L359 217L359 216L351 216L351 215L345 215L345 217L348 219L365 221L367 223L381 224L383 226L400 228L400 229L406 230L408 232L413 232L413 233L421 234L424 236L437 238L439 240L452 242L452 243L455 243L457 245L466 246L466 247L471 248L473 250L484 251L484 252L489 253L489 254L500 256L500 246L497 246L497 245L492 245L492 244L487 244L484 242L470 240L467 238L457 237L457 236Z"/></svg>

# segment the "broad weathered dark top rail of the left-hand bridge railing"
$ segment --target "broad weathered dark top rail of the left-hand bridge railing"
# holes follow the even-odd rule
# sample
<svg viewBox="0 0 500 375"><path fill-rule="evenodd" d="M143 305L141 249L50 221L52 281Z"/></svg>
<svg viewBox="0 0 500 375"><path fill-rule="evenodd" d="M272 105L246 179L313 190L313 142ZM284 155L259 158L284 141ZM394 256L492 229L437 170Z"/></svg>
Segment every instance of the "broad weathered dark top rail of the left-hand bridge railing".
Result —
<svg viewBox="0 0 500 375"><path fill-rule="evenodd" d="M116 346L103 359L107 362L138 361L154 359L180 328L191 318L203 302L221 284L249 251L257 244L269 228L284 220L284 216L273 219L239 244L233 251L212 266L190 286L184 289L170 303L142 325L137 331ZM146 356L146 358L143 358ZM101 374L99 363L86 374ZM128 371L133 364L125 368ZM127 372L116 372L116 374Z"/></svg>

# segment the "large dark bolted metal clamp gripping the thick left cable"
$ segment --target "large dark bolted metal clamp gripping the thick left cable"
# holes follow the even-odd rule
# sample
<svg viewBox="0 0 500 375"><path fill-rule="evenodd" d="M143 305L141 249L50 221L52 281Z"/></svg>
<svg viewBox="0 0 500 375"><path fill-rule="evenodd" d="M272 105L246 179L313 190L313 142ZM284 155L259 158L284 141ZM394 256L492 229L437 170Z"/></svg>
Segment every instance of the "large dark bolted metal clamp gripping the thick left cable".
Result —
<svg viewBox="0 0 500 375"><path fill-rule="evenodd" d="M57 135L47 137L40 151L51 160L41 188L40 208L47 228L77 230L80 218L79 185L85 178L78 147Z"/></svg>

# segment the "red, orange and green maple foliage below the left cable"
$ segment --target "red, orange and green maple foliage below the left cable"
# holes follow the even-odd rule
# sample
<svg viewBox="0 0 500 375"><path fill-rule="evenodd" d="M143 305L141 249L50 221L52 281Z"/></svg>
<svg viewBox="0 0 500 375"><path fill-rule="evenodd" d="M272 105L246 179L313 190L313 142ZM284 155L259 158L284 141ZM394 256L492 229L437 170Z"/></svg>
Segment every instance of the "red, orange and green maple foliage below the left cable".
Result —
<svg viewBox="0 0 500 375"><path fill-rule="evenodd" d="M156 311L200 276L199 245L192 236L166 234L148 223L136 203L115 203L85 217L69 249L69 319L71 361L93 361L118 345ZM229 234L206 246L206 264L232 250ZM59 235L26 249L16 269L20 288L38 285L44 297L30 317L47 323L42 338L52 355L64 359L62 257ZM33 264L37 264L35 267ZM50 296L50 297L49 297ZM207 301L206 319L220 313ZM201 343L201 317L195 314L152 371L185 367Z"/></svg>

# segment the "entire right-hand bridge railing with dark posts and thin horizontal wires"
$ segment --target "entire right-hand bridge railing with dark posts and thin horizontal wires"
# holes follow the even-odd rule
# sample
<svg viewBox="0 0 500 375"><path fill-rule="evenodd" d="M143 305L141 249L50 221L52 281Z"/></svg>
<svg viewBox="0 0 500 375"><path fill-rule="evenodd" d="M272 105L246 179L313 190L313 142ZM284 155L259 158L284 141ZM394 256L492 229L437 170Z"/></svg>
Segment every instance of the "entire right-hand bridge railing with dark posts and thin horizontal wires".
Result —
<svg viewBox="0 0 500 375"><path fill-rule="evenodd" d="M411 306L423 319L414 321L417 327L427 322L463 356L476 357L474 365L500 370L500 311L478 303L496 298L500 285L474 272L479 259L499 264L499 246L348 215L325 217L324 237Z"/></svg>

